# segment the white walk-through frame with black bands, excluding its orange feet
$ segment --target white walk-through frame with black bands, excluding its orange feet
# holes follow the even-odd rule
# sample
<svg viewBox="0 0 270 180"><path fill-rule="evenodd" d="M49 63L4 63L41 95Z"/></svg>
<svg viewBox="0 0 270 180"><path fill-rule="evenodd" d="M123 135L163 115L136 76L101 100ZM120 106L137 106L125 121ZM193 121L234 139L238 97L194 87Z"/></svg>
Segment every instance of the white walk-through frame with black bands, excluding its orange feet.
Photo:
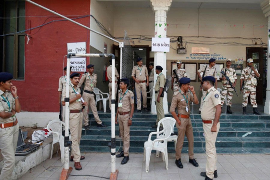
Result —
<svg viewBox="0 0 270 180"><path fill-rule="evenodd" d="M115 55L114 54L75 54L75 53L69 53L67 55L67 74L70 74L70 58L71 57L110 57L112 58L112 77L115 77ZM69 81L66 82L66 97L65 97L65 138L64 138L64 169L68 170L69 169L69 146L70 146L70 141L69 141L69 134L68 134L68 129L69 129ZM115 94L115 83L112 83L112 94ZM116 165L115 165L115 160L116 160L116 138L115 138L115 97L112 96L112 113L111 113L111 131L112 131L112 137L111 137L111 173L116 172Z"/></svg>

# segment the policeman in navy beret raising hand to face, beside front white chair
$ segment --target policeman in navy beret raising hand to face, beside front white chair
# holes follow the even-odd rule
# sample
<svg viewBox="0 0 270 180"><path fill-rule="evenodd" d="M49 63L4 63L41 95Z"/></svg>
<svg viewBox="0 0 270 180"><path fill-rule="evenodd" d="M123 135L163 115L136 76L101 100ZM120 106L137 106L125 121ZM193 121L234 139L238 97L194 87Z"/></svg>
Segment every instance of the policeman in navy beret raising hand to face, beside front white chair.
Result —
<svg viewBox="0 0 270 180"><path fill-rule="evenodd" d="M176 155L175 155L175 164L179 168L183 168L183 164L181 163L181 152L184 143L185 134L188 140L188 156L189 162L193 164L193 166L198 167L199 164L194 159L193 146L194 146L194 138L193 138L193 129L190 120L190 101L199 104L198 98L194 91L194 87L190 86L190 79L187 77L182 77L179 79L180 90L174 92L172 104L170 107L170 112L173 118L176 120L176 127L178 129L178 137L176 144ZM190 90L191 93L188 91ZM175 109L177 108L176 115Z"/></svg>

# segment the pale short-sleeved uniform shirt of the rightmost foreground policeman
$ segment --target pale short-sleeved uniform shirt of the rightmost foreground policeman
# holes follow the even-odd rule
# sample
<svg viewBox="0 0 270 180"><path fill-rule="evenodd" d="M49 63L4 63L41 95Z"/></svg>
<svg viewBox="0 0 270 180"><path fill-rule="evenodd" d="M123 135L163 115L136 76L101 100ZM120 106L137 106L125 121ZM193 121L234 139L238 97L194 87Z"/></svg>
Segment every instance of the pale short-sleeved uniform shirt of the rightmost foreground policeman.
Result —
<svg viewBox="0 0 270 180"><path fill-rule="evenodd" d="M214 87L209 88L206 93L202 101L201 117L203 120L214 120L216 106L221 105L220 93Z"/></svg>

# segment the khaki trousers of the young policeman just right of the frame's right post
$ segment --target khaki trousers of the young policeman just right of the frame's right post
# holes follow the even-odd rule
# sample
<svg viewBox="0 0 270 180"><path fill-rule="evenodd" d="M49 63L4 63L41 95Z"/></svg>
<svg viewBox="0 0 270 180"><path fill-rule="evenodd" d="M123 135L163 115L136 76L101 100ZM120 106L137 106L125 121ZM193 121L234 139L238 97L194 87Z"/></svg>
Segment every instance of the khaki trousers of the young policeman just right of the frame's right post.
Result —
<svg viewBox="0 0 270 180"><path fill-rule="evenodd" d="M128 120L129 120L129 114L120 115L118 114L118 123L119 123L119 131L122 137L123 141L123 151L124 156L128 156L129 154L129 129L130 126L128 126Z"/></svg>

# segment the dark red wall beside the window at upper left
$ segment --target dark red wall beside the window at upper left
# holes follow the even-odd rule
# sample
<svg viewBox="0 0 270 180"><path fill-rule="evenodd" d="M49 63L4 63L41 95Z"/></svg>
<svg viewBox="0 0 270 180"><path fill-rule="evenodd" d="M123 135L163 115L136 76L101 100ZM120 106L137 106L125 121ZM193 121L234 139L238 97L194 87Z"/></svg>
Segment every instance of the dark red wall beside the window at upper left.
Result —
<svg viewBox="0 0 270 180"><path fill-rule="evenodd" d="M90 15L90 0L34 1L64 16ZM26 2L26 16L45 16L26 17L26 29L62 19L28 2ZM75 21L90 27L89 16ZM28 44L25 38L25 80L13 80L13 84L18 88L22 110L58 112L58 79L63 73L63 58L67 54L67 43L86 42L89 53L90 32L70 21L60 21L51 22L26 34L31 38Z"/></svg>

